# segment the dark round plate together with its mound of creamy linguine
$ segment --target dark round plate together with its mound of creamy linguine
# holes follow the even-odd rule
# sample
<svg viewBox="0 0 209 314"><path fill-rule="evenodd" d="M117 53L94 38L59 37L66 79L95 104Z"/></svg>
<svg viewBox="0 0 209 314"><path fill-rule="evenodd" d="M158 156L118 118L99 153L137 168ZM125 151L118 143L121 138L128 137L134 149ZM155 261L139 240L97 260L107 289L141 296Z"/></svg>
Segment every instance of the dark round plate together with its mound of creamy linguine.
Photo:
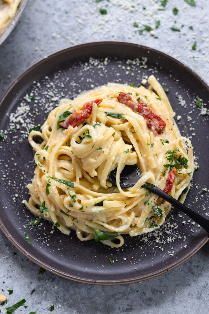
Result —
<svg viewBox="0 0 209 314"><path fill-rule="evenodd" d="M83 44L36 63L1 100L5 235L84 283L137 282L184 262L207 232L143 185L207 212L208 95L190 68L131 43ZM122 188L132 165L141 177Z"/></svg>

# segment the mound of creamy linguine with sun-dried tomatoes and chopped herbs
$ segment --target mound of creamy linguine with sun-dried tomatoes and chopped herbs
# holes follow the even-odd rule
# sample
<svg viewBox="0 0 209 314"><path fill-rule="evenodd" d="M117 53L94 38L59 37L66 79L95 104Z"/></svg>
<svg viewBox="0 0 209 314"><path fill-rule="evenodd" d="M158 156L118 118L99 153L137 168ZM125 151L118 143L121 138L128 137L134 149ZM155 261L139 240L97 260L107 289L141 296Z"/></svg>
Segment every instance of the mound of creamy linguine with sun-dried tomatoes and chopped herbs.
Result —
<svg viewBox="0 0 209 314"><path fill-rule="evenodd" d="M192 145L180 135L157 79L151 75L148 82L148 89L108 84L64 99L41 132L31 131L37 166L24 203L32 213L66 235L75 229L81 241L119 247L123 234L155 230L170 211L144 182L184 201L194 169ZM120 173L134 164L142 177L122 189ZM113 186L108 177L116 167Z"/></svg>

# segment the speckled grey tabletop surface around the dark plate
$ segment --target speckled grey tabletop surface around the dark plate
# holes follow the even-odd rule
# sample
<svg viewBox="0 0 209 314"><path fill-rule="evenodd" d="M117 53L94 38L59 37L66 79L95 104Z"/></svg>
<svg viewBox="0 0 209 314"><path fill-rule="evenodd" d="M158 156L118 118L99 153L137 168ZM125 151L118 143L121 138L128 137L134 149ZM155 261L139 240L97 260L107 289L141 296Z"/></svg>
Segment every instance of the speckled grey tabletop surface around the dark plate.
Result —
<svg viewBox="0 0 209 314"><path fill-rule="evenodd" d="M209 83L209 1L195 2L196 7L184 0L29 0L18 25L0 46L0 96L16 76L46 55L102 40L130 41L169 53ZM102 15L100 8L107 14ZM173 8L178 9L177 15ZM160 21L157 29L156 21ZM143 25L153 30L141 34ZM171 30L174 26L179 31ZM208 249L206 243L185 263L153 279L94 286L48 271L39 274L39 266L18 252L0 231L0 294L8 296L8 304L0 305L0 310L6 313L7 306L25 298L28 307L21 306L15 313L50 313L51 305L52 313L63 314L208 313ZM10 289L13 294L8 295Z"/></svg>

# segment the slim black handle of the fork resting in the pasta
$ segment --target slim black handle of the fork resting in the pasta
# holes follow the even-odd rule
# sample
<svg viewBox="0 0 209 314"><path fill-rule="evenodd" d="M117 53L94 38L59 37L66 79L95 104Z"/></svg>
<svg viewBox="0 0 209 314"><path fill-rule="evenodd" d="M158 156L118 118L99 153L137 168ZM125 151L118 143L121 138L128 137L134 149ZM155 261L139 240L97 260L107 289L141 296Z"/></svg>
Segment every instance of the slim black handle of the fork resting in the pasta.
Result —
<svg viewBox="0 0 209 314"><path fill-rule="evenodd" d="M209 220L206 218L202 217L200 214L197 214L194 210L190 209L189 207L185 206L184 204L180 203L177 201L175 198L172 196L168 195L159 187L156 187L154 184L150 184L148 182L145 182L142 187L145 187L148 189L150 192L156 194L157 196L165 199L165 201L169 202L171 205L177 207L180 209L182 212L187 214L191 219L196 221L203 229L205 229L209 233Z"/></svg>

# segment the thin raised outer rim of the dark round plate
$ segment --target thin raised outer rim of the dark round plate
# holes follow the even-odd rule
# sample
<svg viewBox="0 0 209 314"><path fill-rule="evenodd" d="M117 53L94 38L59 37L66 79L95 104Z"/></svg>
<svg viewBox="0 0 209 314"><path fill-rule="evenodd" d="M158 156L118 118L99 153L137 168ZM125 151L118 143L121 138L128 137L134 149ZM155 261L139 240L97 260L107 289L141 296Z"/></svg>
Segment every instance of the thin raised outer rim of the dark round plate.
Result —
<svg viewBox="0 0 209 314"><path fill-rule="evenodd" d="M39 61L34 62L34 64L32 64L31 66L29 66L28 68L26 68L22 73L20 73L14 80L13 82L8 86L8 88L4 91L3 95L0 98L0 108L1 105L4 101L4 99L6 98L6 96L10 93L10 90L13 89L13 87L15 87L16 84L18 84L19 80L21 80L22 78L24 78L24 76L30 72L33 71L34 68L38 67L41 63L44 63L45 60L49 60L49 59L53 59L56 56L59 56L59 54L65 54L68 51L71 51L73 49L82 49L84 46L92 46L92 45L101 45L101 44L105 44L105 45L117 45L117 44L121 44L121 45L128 45L128 46L134 46L135 48L142 48L145 49L146 51L148 50L152 50L156 53L158 53L159 55L166 57L166 58L170 58L172 59L174 62L178 62L178 64L180 66L183 66L187 71L189 71L191 73L191 75L195 76L196 79L198 79L201 84L204 85L204 87L206 88L206 90L209 92L209 86L207 85L206 81L201 78L201 76L199 74L197 74L193 69L191 69L190 67L188 67L187 65L185 65L183 62L179 61L178 59L176 59L175 57L170 56L169 54L166 54L165 52L162 52L160 50L157 50L155 48L151 48L149 46L144 46L144 45L139 45L139 44L135 44L135 43L130 43L130 42L126 42L126 41L94 41L94 42L88 42L88 43L83 43L80 45L74 45L74 46L69 46L67 48L55 51L54 53L48 55L47 57L44 58L40 58ZM107 53L108 55L108 53ZM24 255L26 255L32 262L36 263L37 265L39 265L40 267L44 267L45 269L49 270L51 273L55 273L63 278L66 279L71 279L73 281L77 281L77 282L81 282L81 283L86 283L86 284L98 284L98 285L117 285L117 284L129 284L129 283L134 283L134 282L138 282L138 281L143 281L143 280L147 280L147 279L151 279L153 277L159 276L163 273L168 272L169 270L179 266L180 264L182 264L183 262L185 262L186 260L188 260L191 256L193 256L196 252L198 252L202 246L204 246L206 244L206 242L209 240L209 236L204 237L201 242L198 243L198 245L196 245L195 248L192 248L192 250L190 252L187 252L186 255L182 256L181 258L178 259L177 262L173 263L172 266L166 266L163 269L160 269L158 272L155 272L154 274L151 273L146 274L144 276L144 278L130 278L130 279L118 279L118 280L114 280L114 281L104 281L104 280L95 280L95 279L86 279L86 278L80 278L80 277L76 277L74 275L69 275L66 273L63 273L61 270L57 270L55 268L50 268L50 265L47 265L44 262L39 261L39 259L37 257L34 256L34 254L27 252L19 243L18 241L12 236L10 236L10 233L8 232L6 226L2 225L2 221L0 219L0 229L3 231L3 233L5 234L5 236L10 240L10 242Z"/></svg>

